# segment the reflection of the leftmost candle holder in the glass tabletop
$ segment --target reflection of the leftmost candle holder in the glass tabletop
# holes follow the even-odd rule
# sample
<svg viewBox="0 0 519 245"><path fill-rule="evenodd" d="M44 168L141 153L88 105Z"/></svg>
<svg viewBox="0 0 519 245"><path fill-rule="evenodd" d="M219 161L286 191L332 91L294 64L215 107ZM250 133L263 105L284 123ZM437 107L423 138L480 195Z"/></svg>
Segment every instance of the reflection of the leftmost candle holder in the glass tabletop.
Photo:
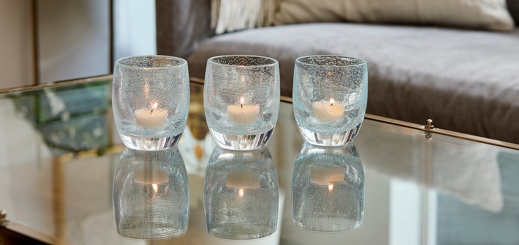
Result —
<svg viewBox="0 0 519 245"><path fill-rule="evenodd" d="M187 172L176 147L155 152L125 148L115 170L112 195L121 236L169 239L187 231Z"/></svg>

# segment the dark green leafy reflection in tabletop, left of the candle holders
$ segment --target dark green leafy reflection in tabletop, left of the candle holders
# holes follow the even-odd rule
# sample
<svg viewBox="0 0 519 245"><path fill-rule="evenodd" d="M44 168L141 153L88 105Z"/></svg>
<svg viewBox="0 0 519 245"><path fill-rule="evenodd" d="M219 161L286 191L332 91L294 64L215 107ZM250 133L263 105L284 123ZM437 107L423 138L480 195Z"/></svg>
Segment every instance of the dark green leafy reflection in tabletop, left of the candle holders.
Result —
<svg viewBox="0 0 519 245"><path fill-rule="evenodd" d="M16 110L55 153L110 146L111 79L8 93ZM106 133L108 132L108 133Z"/></svg>

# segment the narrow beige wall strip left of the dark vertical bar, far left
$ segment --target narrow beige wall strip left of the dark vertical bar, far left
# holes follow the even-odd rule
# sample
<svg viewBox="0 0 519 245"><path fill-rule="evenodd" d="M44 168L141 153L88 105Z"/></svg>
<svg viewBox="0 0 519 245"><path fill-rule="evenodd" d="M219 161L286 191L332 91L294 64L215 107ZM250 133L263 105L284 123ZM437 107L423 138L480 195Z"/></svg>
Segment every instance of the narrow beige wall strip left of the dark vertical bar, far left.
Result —
<svg viewBox="0 0 519 245"><path fill-rule="evenodd" d="M0 90L30 85L31 1L0 0Z"/></svg>

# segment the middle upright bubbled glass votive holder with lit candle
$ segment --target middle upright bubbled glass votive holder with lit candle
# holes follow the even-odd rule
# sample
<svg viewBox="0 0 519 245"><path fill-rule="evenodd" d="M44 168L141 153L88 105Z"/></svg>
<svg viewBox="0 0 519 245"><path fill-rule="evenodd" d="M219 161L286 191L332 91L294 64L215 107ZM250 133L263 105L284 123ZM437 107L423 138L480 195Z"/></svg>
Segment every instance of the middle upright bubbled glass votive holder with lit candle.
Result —
<svg viewBox="0 0 519 245"><path fill-rule="evenodd" d="M278 61L252 55L210 58L203 97L216 144L230 150L265 146L278 119L279 93Z"/></svg>

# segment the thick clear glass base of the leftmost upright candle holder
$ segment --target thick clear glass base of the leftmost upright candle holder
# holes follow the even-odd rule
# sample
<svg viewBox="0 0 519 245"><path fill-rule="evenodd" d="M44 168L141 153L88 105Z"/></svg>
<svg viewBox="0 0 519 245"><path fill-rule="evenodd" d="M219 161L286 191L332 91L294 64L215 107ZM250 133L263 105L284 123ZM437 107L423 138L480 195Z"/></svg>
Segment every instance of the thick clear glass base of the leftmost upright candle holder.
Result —
<svg viewBox="0 0 519 245"><path fill-rule="evenodd" d="M182 137L182 133L164 138L140 138L124 135L120 132L119 135L121 136L122 142L125 143L126 147L140 151L166 150L176 146L176 143L179 142L180 137Z"/></svg>

